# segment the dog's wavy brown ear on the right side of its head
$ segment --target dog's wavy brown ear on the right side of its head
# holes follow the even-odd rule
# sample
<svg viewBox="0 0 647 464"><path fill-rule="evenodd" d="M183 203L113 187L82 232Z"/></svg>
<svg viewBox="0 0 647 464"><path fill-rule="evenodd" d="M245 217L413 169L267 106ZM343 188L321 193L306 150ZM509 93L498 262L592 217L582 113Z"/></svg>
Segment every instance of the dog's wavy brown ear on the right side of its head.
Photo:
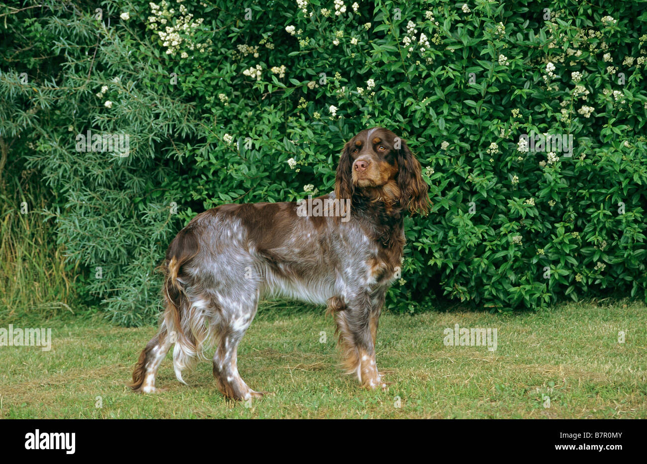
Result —
<svg viewBox="0 0 647 464"><path fill-rule="evenodd" d="M429 213L428 185L422 179L422 169L404 140L397 150L399 167L398 187L400 188L400 203L411 214L419 213L426 216Z"/></svg>

